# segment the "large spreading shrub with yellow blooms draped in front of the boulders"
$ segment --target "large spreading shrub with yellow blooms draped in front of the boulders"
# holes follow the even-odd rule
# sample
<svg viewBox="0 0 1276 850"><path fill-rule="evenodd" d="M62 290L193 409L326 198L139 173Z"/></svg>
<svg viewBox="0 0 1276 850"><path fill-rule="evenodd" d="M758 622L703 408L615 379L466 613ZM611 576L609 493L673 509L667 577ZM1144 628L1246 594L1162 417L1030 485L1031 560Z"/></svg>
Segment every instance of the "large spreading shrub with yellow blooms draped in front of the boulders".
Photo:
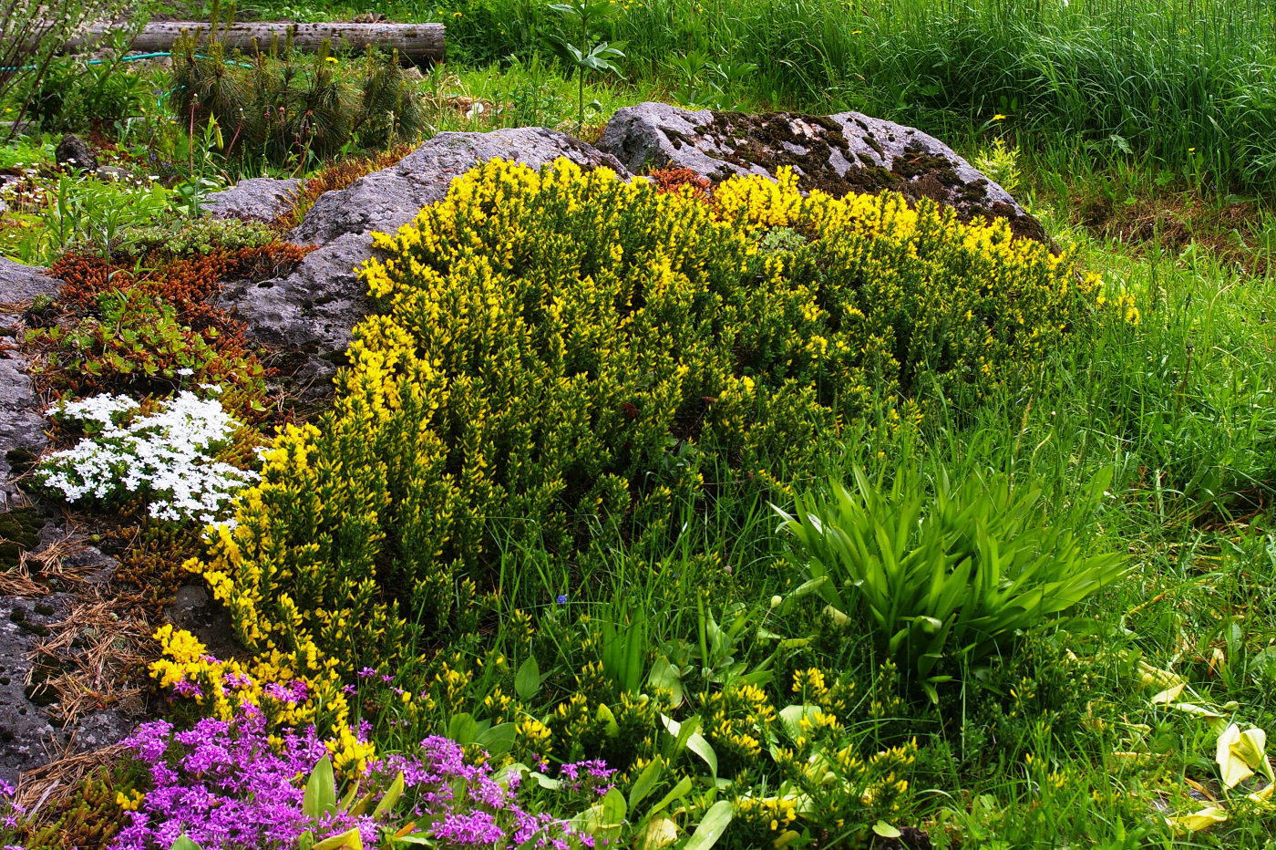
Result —
<svg viewBox="0 0 1276 850"><path fill-rule="evenodd" d="M919 415L924 375L990 388L1100 309L1004 222L791 174L706 203L493 161L376 245L334 410L281 434L195 564L250 648L311 676L393 665L504 553L665 551L720 472L786 493L870 406Z"/></svg>

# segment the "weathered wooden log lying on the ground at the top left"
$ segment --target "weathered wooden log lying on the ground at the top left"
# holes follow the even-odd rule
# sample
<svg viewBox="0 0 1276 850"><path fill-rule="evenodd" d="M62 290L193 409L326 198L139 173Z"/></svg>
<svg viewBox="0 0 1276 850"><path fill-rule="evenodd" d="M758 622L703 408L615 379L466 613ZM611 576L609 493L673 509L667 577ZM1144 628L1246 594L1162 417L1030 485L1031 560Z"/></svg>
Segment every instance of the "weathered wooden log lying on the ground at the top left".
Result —
<svg viewBox="0 0 1276 850"><path fill-rule="evenodd" d="M110 24L93 24L83 37L64 45L66 52L92 48L105 37L117 32ZM397 50L406 60L426 65L443 61L443 24L401 23L288 23L251 22L218 27L217 36L227 47L237 47L246 54L265 51L278 38L282 43L292 31L292 46L315 51L327 41L334 51L362 52L369 45L380 50ZM134 52L166 52L181 33L195 33L203 41L208 24L195 20L163 20L148 23L133 37Z"/></svg>

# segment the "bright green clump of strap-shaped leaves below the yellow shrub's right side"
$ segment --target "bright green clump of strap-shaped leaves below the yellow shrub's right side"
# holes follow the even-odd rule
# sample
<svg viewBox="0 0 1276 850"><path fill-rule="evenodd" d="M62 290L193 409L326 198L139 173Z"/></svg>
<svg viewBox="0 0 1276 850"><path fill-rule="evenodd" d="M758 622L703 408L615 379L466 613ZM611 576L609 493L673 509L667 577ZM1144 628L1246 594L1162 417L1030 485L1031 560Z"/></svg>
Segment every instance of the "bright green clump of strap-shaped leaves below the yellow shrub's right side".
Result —
<svg viewBox="0 0 1276 850"><path fill-rule="evenodd" d="M1007 475L928 494L903 470L889 490L861 470L832 498L800 496L780 512L800 544L796 558L836 615L863 614L880 648L931 698L954 664L1007 652L1023 630L1074 608L1125 570L1111 553L1087 554L1083 528L1110 480L1099 476L1083 504L1051 522L1041 491Z"/></svg>

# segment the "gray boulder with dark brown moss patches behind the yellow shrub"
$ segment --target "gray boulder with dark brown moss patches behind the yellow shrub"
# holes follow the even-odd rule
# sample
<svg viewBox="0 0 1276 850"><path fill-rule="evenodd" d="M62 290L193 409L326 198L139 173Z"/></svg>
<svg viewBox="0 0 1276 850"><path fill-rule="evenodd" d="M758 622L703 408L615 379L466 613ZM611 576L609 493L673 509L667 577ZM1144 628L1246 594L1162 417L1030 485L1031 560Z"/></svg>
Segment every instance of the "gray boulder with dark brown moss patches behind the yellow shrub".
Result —
<svg viewBox="0 0 1276 850"><path fill-rule="evenodd" d="M713 181L791 166L804 190L842 197L889 189L910 202L948 204L965 221L1005 218L1016 235L1046 241L1041 225L1009 193L947 144L860 112L746 115L639 103L615 114L598 149L634 172L685 167Z"/></svg>

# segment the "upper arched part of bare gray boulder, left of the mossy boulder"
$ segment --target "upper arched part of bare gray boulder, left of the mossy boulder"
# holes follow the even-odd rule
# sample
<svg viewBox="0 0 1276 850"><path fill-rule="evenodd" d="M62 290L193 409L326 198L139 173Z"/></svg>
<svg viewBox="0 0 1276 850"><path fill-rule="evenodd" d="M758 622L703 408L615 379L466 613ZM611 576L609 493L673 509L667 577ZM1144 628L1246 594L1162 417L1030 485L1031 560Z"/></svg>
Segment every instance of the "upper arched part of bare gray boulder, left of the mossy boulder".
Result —
<svg viewBox="0 0 1276 850"><path fill-rule="evenodd" d="M581 166L624 172L614 157L541 126L440 133L389 168L360 177L348 189L322 195L288 239L324 245L347 234L392 234L412 221L422 207L443 198L453 177L498 157L532 167L567 157Z"/></svg>

